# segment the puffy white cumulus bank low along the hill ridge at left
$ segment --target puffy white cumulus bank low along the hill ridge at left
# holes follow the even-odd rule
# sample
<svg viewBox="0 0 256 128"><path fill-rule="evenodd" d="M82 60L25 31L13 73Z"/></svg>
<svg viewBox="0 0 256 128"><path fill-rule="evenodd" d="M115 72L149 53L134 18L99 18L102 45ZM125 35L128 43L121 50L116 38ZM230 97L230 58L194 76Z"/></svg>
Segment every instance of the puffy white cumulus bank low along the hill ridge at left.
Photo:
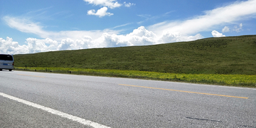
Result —
<svg viewBox="0 0 256 128"><path fill-rule="evenodd" d="M7 37L6 40L0 38L0 53L39 53L53 50L76 50L86 48L107 48L119 46L143 46L157 43L155 34L147 31L144 26L134 29L127 35L117 35L115 33L102 33L98 38L83 36L82 38L72 39L63 38L56 41L50 38L36 39L27 38L27 45L19 46L18 42Z"/></svg>

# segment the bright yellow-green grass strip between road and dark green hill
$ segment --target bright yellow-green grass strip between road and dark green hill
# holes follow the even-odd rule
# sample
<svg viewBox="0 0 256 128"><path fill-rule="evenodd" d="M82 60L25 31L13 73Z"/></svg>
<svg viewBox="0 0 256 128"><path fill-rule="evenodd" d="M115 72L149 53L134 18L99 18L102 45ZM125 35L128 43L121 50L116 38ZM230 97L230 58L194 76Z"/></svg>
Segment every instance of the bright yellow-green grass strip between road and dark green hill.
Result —
<svg viewBox="0 0 256 128"><path fill-rule="evenodd" d="M16 67L15 70L24 70L24 67ZM168 80L178 82L205 83L212 85L230 85L240 87L256 87L256 75L218 75L218 74L178 74L156 73L137 70L92 70L85 68L26 68L26 70L71 73L78 75L100 75L121 78L140 78L149 80ZM46 71L47 70L47 71Z"/></svg>

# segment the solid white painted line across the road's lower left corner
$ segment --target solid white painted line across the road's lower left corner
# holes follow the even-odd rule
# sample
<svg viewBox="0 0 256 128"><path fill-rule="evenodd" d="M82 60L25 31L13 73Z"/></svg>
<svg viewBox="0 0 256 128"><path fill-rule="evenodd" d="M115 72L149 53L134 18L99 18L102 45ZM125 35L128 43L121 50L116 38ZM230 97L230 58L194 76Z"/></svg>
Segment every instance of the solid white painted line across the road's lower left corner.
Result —
<svg viewBox="0 0 256 128"><path fill-rule="evenodd" d="M53 110L53 109L51 109L51 108L49 108L49 107L44 107L44 106L42 106L42 105L37 105L37 104L35 104L35 103L33 103L33 102L28 102L28 101L26 101L26 100L22 100L22 99L19 99L19 98L17 98L17 97L13 97L13 96L11 96L11 95L6 95L6 94L4 94L4 93L2 93L2 92L0 92L0 95L3 96L3 97L9 98L9 99L11 99L11 100L15 100L15 101L17 101L17 102L21 102L21 103L23 103L23 104L26 104L26 105L29 105L29 106L32 106L32 107L36 107L36 108L41 109L41 110L44 110L44 111L46 111L46 112L50 112L51 114L56 114L56 115L58 115L58 116L60 116L60 117L64 117L64 118L71 119L71 120L73 120L73 121L75 121L75 122L79 122L79 123L81 123L81 124L85 124L85 125L90 126L90 127L95 127L95 128L110 128L110 127L107 127L107 126L105 126L105 125L98 124L97 122L92 122L92 121L87 120L87 119L82 119L82 118L80 118L80 117L75 117L75 116L73 116L73 115L71 115L71 114L67 114L67 113L64 113L64 112L60 112L60 111L58 111L58 110Z"/></svg>

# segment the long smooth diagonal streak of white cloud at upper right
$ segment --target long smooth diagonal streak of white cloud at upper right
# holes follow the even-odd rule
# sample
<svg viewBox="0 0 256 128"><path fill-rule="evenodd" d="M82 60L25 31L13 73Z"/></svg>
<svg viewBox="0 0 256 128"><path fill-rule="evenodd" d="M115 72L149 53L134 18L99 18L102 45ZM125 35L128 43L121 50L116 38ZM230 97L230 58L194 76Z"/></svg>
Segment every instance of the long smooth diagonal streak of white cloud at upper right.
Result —
<svg viewBox="0 0 256 128"><path fill-rule="evenodd" d="M158 36L161 35L163 31L182 33L183 35L209 31L215 26L240 21L245 19L245 16L256 14L255 6L255 0L239 1L228 6L205 11L205 15L196 16L185 21L164 21L156 23L149 26L149 31L153 31Z"/></svg>

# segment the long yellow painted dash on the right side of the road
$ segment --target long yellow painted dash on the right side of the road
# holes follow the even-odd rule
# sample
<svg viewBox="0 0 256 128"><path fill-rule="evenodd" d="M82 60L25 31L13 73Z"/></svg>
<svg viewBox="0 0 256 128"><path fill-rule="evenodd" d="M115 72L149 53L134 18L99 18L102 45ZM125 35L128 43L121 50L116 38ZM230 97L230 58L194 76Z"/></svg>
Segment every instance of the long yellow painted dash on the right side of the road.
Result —
<svg viewBox="0 0 256 128"><path fill-rule="evenodd" d="M119 85L124 85L124 84L119 84ZM155 89L155 90L170 90L170 89L164 89L164 88L145 87L145 86L137 86L137 85L124 85L124 86L144 87L144 88L150 88L150 89ZM170 91L196 93L196 94L202 94L202 95L217 95L217 94L202 93L202 92L190 92L190 91L183 91L183 90L170 90ZM236 97L236 96L231 96L231 95L217 95L217 96L221 96L221 97ZM236 98L248 99L248 97L236 97Z"/></svg>

